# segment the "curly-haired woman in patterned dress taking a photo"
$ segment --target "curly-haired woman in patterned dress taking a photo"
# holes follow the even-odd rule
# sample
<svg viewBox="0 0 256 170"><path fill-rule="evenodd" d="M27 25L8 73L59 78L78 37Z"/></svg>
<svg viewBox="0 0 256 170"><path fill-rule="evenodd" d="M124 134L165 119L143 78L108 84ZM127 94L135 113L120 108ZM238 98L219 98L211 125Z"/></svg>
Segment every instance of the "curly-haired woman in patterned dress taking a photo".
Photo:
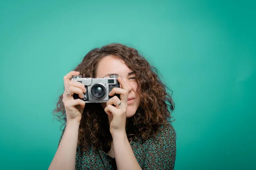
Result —
<svg viewBox="0 0 256 170"><path fill-rule="evenodd" d="M134 48L110 44L91 50L64 76L64 93L53 111L64 120L58 150L49 166L71 169L174 169L176 134L168 122L174 109L166 85ZM118 76L106 103L86 103L86 88L73 75Z"/></svg>

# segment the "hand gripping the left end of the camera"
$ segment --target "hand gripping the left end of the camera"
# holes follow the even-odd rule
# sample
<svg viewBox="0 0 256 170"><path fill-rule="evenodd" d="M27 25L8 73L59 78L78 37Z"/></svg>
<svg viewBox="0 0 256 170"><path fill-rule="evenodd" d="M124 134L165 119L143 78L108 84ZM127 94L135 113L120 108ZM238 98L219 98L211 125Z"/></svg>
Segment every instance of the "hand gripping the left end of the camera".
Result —
<svg viewBox="0 0 256 170"><path fill-rule="evenodd" d="M80 73L78 71L70 71L66 76L64 76L65 91L62 95L62 102L64 103L66 110L67 122L70 120L76 120L80 122L82 113L84 111L85 102L81 99L74 99L73 94L79 94L79 97L83 98L83 93L86 92L86 88L81 82L70 80L73 76L79 74ZM68 94L70 94L70 96Z"/></svg>

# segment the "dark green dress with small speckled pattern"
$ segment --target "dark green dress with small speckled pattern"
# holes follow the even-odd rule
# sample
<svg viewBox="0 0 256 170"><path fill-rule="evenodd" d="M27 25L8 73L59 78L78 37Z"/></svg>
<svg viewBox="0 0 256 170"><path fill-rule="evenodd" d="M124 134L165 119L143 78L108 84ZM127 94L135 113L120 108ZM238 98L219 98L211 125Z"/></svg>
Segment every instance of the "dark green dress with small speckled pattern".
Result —
<svg viewBox="0 0 256 170"><path fill-rule="evenodd" d="M63 136L65 127L62 131ZM140 167L143 170L173 170L176 158L176 133L171 124L161 127L156 138L145 142L132 141L130 143ZM60 141L61 141L60 138ZM59 144L60 144L59 141ZM77 146L76 170L116 170L115 158L89 147L86 152Z"/></svg>

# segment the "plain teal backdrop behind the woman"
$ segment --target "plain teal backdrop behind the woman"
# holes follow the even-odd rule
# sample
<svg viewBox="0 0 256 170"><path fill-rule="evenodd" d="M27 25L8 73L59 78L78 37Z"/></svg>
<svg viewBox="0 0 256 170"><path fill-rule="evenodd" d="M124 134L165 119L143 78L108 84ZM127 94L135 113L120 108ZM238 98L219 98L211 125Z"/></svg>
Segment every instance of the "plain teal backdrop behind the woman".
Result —
<svg viewBox="0 0 256 170"><path fill-rule="evenodd" d="M120 42L156 66L176 104L175 170L256 169L255 1L0 1L0 169L47 169L63 77Z"/></svg>

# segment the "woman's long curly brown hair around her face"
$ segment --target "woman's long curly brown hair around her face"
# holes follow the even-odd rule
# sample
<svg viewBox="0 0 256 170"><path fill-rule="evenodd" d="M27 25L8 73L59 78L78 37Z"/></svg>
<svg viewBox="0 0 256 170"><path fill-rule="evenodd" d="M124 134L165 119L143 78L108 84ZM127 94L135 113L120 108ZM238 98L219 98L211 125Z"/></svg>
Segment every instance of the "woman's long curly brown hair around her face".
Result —
<svg viewBox="0 0 256 170"><path fill-rule="evenodd" d="M136 49L119 43L94 48L86 54L74 71L79 71L82 77L96 78L99 61L109 55L122 59L136 75L140 105L134 116L128 118L126 125L128 140L143 142L156 136L161 125L165 126L173 121L171 113L175 104L172 93L167 92L167 90L172 91L160 80L157 68L151 66ZM52 113L62 125L66 125L66 112L62 99L63 96L59 96L57 108ZM95 149L108 152L111 149L111 141L108 115L99 103L86 103L79 125L78 144L81 144L83 151L93 146Z"/></svg>

